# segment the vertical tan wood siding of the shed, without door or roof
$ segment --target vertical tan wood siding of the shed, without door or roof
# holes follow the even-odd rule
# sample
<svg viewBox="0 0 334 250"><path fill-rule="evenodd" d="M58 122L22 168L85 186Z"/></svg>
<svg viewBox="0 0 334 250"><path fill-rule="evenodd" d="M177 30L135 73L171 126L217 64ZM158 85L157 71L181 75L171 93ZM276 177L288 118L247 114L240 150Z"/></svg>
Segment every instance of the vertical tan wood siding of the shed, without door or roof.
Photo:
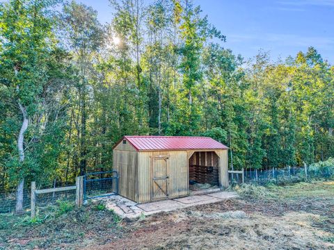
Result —
<svg viewBox="0 0 334 250"><path fill-rule="evenodd" d="M120 146L121 145L121 146ZM120 146L120 148L118 148ZM144 203L152 200L152 169L154 157L168 156L168 198L189 194L189 158L194 151L136 151L131 144L120 144L113 150L113 168L118 171L119 194ZM219 157L219 184L228 188L228 151L215 151ZM193 162L214 164L212 153L197 153Z"/></svg>

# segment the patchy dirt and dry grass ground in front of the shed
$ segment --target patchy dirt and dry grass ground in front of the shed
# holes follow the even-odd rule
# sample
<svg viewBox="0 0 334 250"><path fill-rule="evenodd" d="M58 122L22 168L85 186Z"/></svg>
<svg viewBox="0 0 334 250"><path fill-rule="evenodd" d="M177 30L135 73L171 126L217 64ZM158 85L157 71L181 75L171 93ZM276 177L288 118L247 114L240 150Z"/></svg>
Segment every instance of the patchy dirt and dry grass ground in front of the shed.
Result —
<svg viewBox="0 0 334 250"><path fill-rule="evenodd" d="M333 181L239 192L133 220L92 205L19 231L0 228L0 249L334 249Z"/></svg>

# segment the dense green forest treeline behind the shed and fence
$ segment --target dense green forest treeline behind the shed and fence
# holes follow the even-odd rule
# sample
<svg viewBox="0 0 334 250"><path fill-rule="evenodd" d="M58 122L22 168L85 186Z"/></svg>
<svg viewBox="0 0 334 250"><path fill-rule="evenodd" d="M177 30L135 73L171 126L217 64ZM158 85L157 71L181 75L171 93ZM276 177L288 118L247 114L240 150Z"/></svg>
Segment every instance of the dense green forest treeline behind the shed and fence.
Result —
<svg viewBox="0 0 334 250"><path fill-rule="evenodd" d="M109 170L122 135L210 136L234 169L334 156L334 67L315 48L246 60L191 0L106 8L100 24L76 1L1 3L0 190Z"/></svg>

